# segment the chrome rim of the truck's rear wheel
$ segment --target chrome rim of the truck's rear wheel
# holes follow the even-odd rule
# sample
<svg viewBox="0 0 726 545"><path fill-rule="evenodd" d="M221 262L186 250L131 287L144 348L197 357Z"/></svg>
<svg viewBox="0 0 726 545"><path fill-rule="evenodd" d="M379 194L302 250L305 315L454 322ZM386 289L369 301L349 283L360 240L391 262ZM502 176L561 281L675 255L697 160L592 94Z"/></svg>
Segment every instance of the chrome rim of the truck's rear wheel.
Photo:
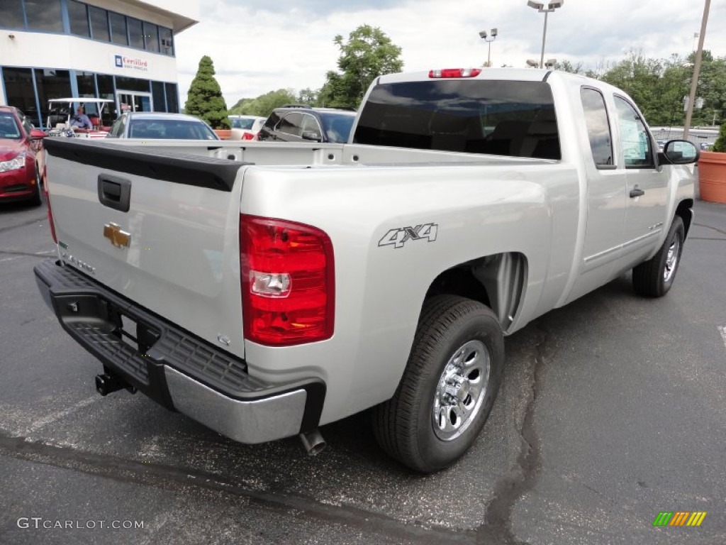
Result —
<svg viewBox="0 0 726 545"><path fill-rule="evenodd" d="M433 396L433 432L444 441L462 435L476 419L489 385L491 359L481 341L454 351L439 376Z"/></svg>

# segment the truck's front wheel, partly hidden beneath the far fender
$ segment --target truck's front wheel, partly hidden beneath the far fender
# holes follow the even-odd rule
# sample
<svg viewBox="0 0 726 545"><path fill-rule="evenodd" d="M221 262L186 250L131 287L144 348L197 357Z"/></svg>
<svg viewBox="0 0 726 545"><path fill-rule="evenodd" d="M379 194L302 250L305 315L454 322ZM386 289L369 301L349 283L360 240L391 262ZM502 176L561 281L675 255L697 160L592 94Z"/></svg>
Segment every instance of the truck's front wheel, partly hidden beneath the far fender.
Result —
<svg viewBox="0 0 726 545"><path fill-rule="evenodd" d="M685 240L683 220L676 216L658 253L633 269L633 288L640 295L662 297L676 278Z"/></svg>

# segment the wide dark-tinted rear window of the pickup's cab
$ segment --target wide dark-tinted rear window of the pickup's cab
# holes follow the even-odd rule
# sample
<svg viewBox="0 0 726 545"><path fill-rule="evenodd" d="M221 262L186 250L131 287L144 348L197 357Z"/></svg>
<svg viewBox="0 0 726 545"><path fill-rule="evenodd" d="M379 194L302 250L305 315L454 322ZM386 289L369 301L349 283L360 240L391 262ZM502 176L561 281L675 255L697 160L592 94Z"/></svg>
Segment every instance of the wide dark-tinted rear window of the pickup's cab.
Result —
<svg viewBox="0 0 726 545"><path fill-rule="evenodd" d="M542 81L409 81L375 86L358 144L560 159L555 106Z"/></svg>

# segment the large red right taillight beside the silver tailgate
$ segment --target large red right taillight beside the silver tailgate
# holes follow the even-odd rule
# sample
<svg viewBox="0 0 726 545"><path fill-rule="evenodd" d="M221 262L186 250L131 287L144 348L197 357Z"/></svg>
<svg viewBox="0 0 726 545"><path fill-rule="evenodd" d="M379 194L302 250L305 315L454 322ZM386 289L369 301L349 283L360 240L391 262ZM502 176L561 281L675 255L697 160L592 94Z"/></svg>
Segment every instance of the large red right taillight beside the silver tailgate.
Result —
<svg viewBox="0 0 726 545"><path fill-rule="evenodd" d="M269 346L333 336L333 243L316 227L240 215L245 339Z"/></svg>

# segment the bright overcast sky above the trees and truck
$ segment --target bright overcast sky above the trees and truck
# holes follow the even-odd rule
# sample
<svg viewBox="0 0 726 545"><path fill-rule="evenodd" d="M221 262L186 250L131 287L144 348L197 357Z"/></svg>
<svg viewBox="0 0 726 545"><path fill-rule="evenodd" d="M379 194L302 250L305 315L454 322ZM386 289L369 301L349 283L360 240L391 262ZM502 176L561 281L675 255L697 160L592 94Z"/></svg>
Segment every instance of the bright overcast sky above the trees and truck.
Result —
<svg viewBox="0 0 726 545"><path fill-rule="evenodd" d="M546 0L545 0L546 1ZM545 59L596 69L629 49L646 57L688 55L698 44L703 0L565 0L547 20ZM176 36L179 92L209 55L231 108L242 97L310 87L337 69L336 34L379 27L401 47L404 70L481 66L479 31L499 29L492 65L539 60L544 15L526 0L200 0L200 23ZM711 2L704 49L726 56L726 2Z"/></svg>

